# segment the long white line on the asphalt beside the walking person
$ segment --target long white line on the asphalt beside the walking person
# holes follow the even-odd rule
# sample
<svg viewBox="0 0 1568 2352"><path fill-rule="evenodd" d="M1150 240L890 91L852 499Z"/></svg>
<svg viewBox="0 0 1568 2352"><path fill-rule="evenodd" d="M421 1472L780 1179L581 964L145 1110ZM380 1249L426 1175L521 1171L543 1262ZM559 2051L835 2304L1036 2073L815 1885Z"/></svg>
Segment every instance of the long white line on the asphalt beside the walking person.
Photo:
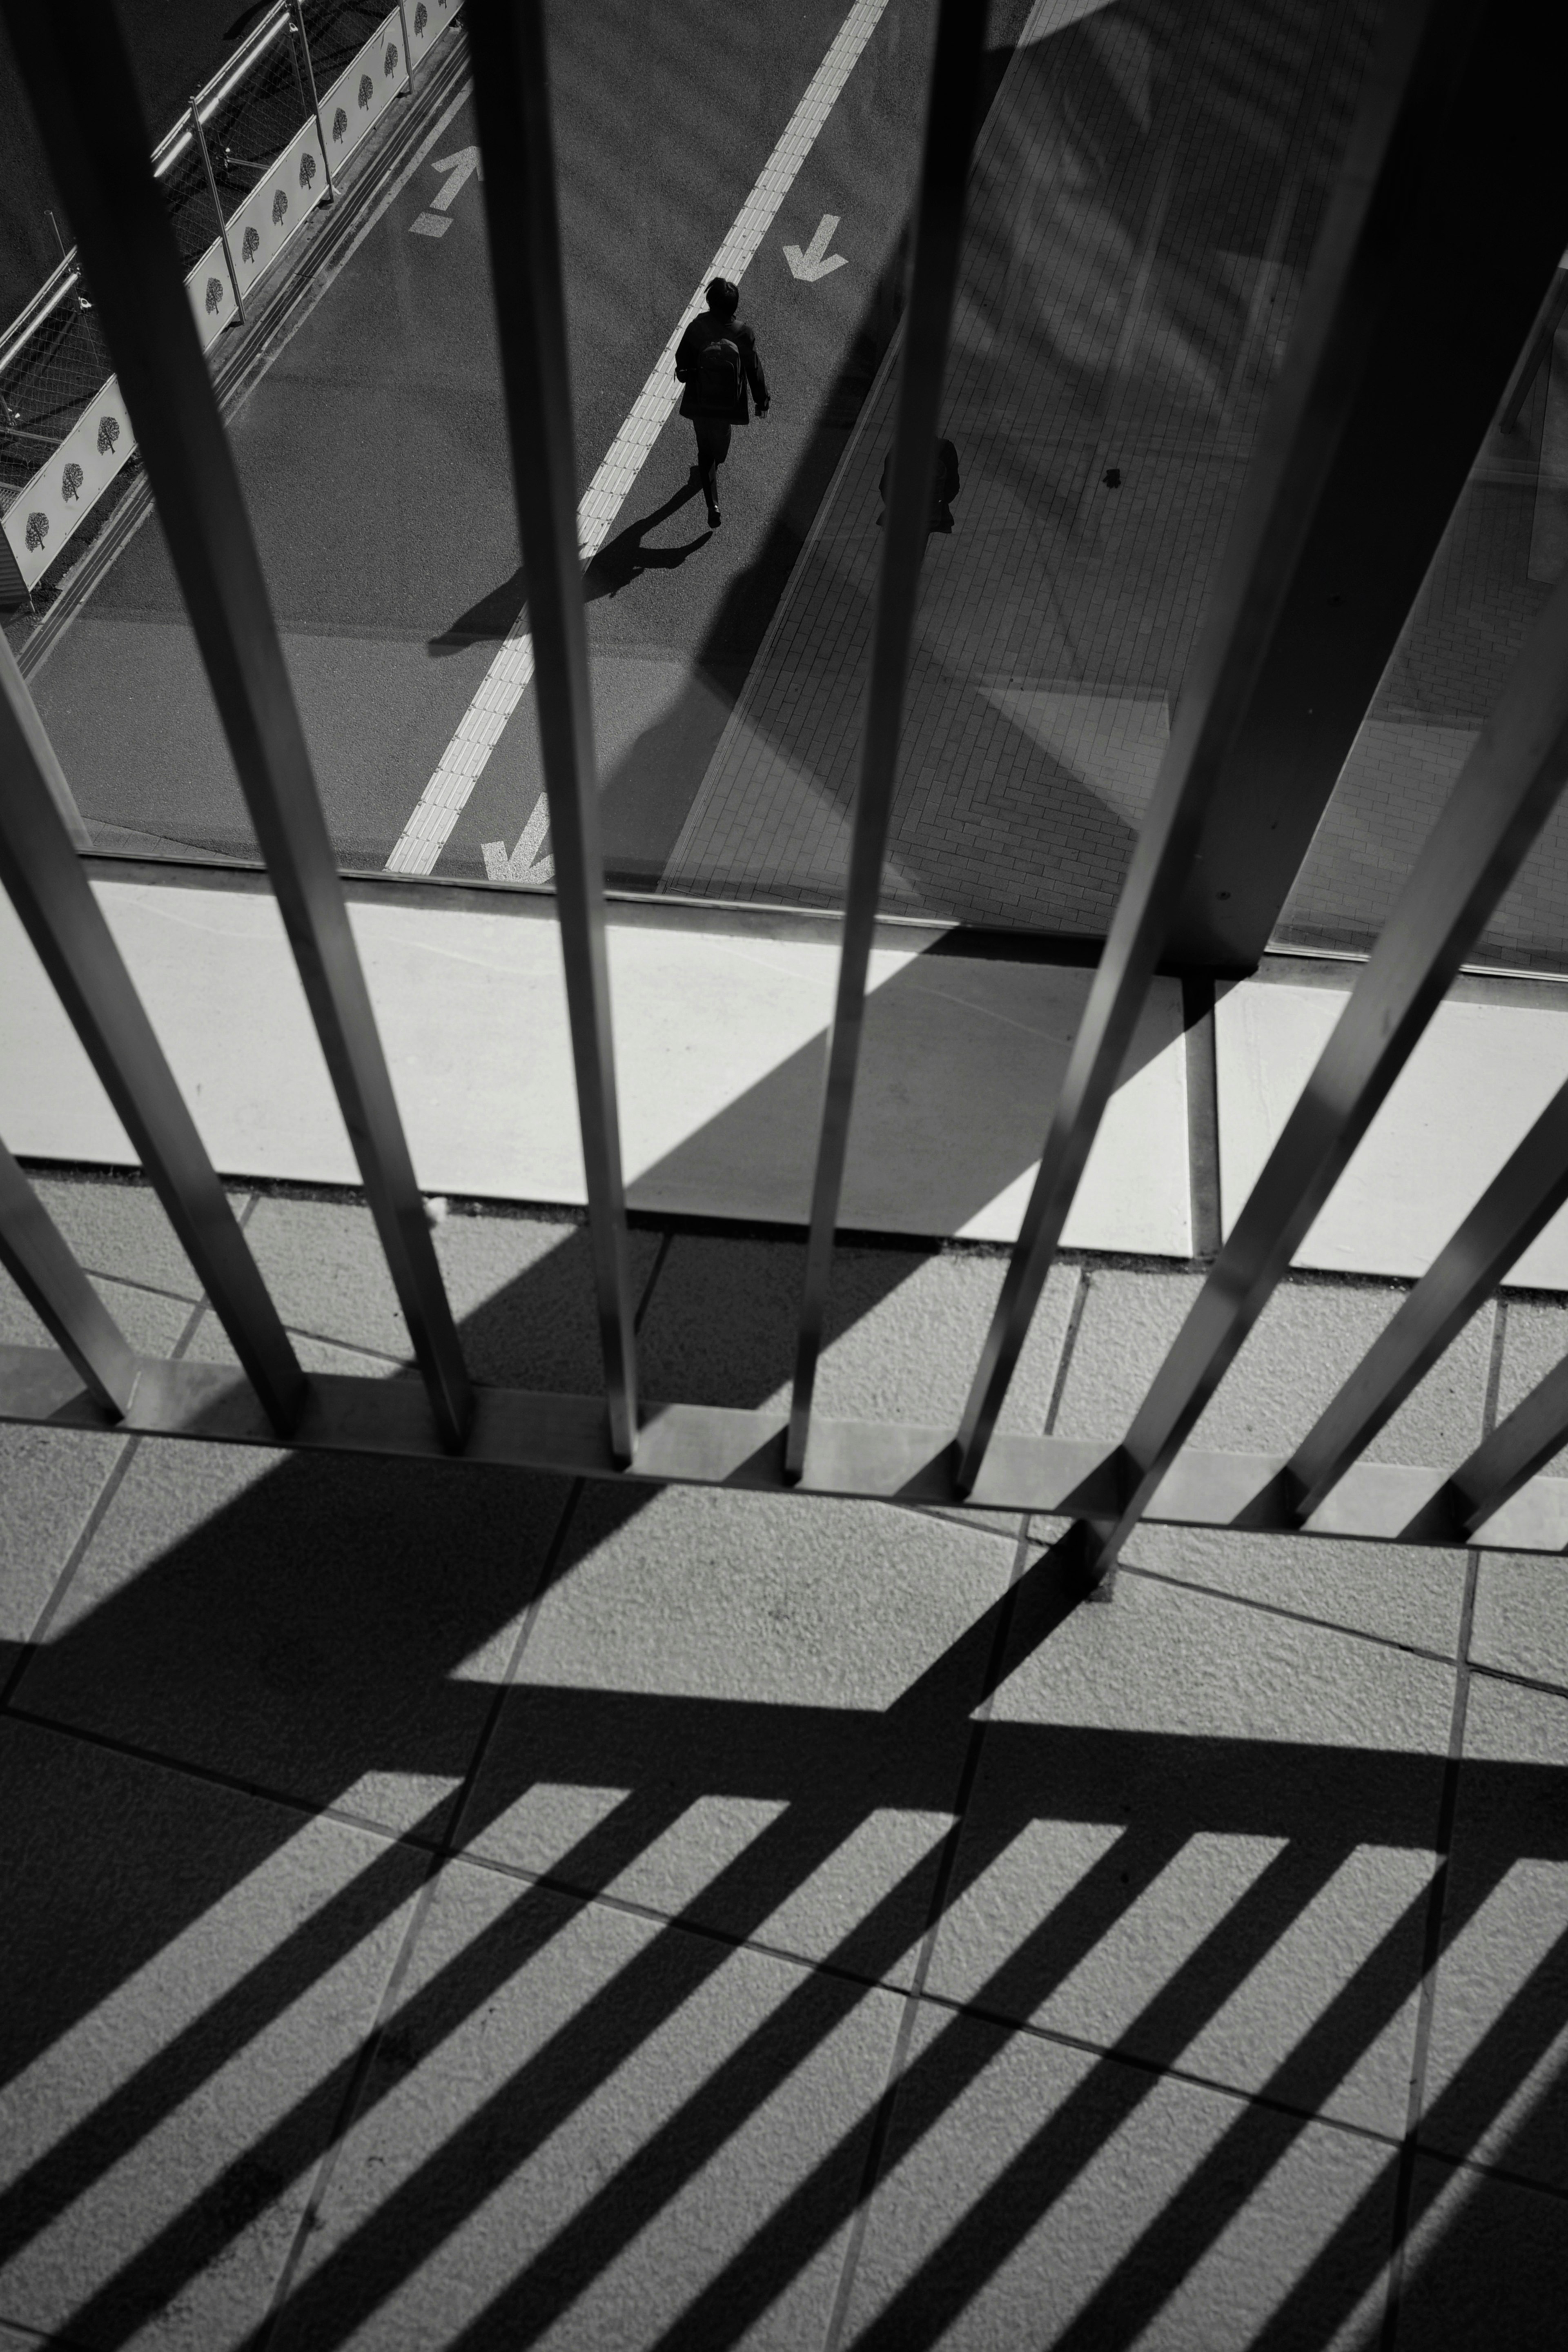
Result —
<svg viewBox="0 0 1568 2352"><path fill-rule="evenodd" d="M757 247L773 226L778 207L795 186L795 174L816 146L818 132L827 122L844 82L853 73L856 59L877 31L886 5L889 0L856 0L849 16L839 26L832 47L827 49L827 56L816 68L806 96L790 115L783 139L762 167L757 186L741 205L724 245L703 270L691 301L682 310L670 341L658 355L658 365L637 393L632 412L621 426L609 456L583 492L583 503L578 506L578 546L583 550L583 560L592 557L609 539L611 524L616 522L632 482L642 473L654 442L670 421L670 412L679 397L679 386L675 381L675 346L703 308L703 287L710 278L741 280L745 275L745 266L755 259ZM418 807L402 828L397 847L386 861L388 873L430 873L458 821L463 802L484 771L484 762L501 741L505 722L527 694L531 677L534 640L527 628L517 626L484 673L484 682L463 713L458 731L442 753L440 767L418 797ZM545 835L545 826L536 826L541 809L543 800L529 814L512 856L505 854L503 842L484 844L484 870L491 882L545 882L550 877L550 858L538 858Z"/></svg>

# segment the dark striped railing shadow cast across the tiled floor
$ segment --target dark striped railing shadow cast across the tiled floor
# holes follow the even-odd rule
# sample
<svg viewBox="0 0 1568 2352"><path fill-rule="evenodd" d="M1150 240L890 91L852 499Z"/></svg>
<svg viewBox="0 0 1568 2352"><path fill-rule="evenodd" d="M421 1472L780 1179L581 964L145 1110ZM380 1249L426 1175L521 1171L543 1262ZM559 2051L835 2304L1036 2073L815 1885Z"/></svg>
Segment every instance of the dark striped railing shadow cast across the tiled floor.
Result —
<svg viewBox="0 0 1568 2352"><path fill-rule="evenodd" d="M458 1218L442 1228L449 1272L461 1272L463 1251L487 1240L484 1223ZM456 1232L461 1225L473 1230ZM637 1235L644 1301L651 1296L644 1334L654 1392L677 1374L684 1392L726 1402L762 1402L776 1385L773 1357L783 1355L795 1310L799 1247L750 1244L750 1322L736 1315L733 1263L722 1256L733 1247L677 1242L656 1256L656 1240ZM846 1254L835 1329L875 1312L914 1263L907 1251ZM574 1390L592 1385L592 1334L578 1228L463 1327L480 1378ZM150 1449L132 1470L132 1510L136 1494L146 1503L158 1491L160 1451ZM0 2194L0 2260L19 2258L80 2199L103 2192L110 2171L134 2161L223 2067L386 1931L449 1837L449 1790L463 1780L487 1729L494 1731L487 1769L463 1818L470 1849L529 1790L625 1792L609 1811L597 1799L581 1806L545 1879L524 1884L456 1957L402 1992L369 2049L324 2060L308 2091L259 2126L216 2183L99 2277L63 2319L66 2340L120 2345L186 2296L313 2176L350 2110L364 2122L395 2100L414 2067L430 2063L564 1933L576 1903L611 1889L693 1806L717 1799L771 1818L705 1879L675 1924L585 1992L569 2020L510 2072L496 2070L440 2145L313 2263L282 2310L289 2343L329 2347L364 2326L731 1962L738 1940L773 1919L879 1816L957 1813L966 1743L983 1757L985 1802L966 1806L950 1849L947 1907L1037 1820L1091 1825L1107 1844L1070 1893L1023 1922L1023 1940L910 2058L884 2122L884 2173L943 2126L1018 2032L1009 2020L1032 2018L1091 1962L1194 1839L1272 1842L1274 1858L1197 1947L1171 1964L1117 2049L1088 2067L858 2338L886 2352L931 2345L1154 2093L1159 2067L1173 2065L1239 1994L1356 1849L1432 1853L1439 1844L1443 1762L1432 1755L1016 1719L969 1729L987 1693L1077 1609L1081 1592L1060 1550L1046 1550L884 1710L574 1689L548 1679L517 1679L501 1698L494 1644L503 1630L529 1597L559 1590L654 1501L656 1491L614 1486L576 1501L562 1479L461 1463L294 1458L150 1566L120 1583L110 1578L96 1606L33 1653L12 1708L24 1719L19 1733L31 1724L33 1738L49 1745L49 1722L80 1726L110 1745L179 1757L230 1788L273 1790L284 1802L237 1806L221 1832L195 1835L186 1818L195 1783L179 1795L153 1773L143 1809L127 1813L118 1804L108 1830L92 1802L68 1795L71 1773L87 1769L80 1757L94 1750L78 1750L73 1762L54 1743L38 1785L14 1785L14 1809L33 1809L47 1825L49 1882L71 1889L73 1903L89 1903L92 1931L73 1940L71 1969L52 1966L59 1919L40 1910L33 1922L19 1898L12 1933L38 1950L19 1955L19 1978L35 1983L28 2004L12 2004L5 2018L7 2079L197 1922L212 1919L221 1938L228 1898L254 1886L301 1835L301 1804L369 1809L393 1818L402 1842L383 1846L315 1910L282 1924L261 1959L14 2173ZM475 1677L470 1661L487 1653L494 1665ZM1467 1844L1467 1872L1448 1884L1446 1943L1521 1856L1568 1858L1561 1773L1523 1764L1467 1764L1465 1773L1481 1835ZM386 1790L409 1778L423 1780L428 1797L404 1804L400 1816L397 1797ZM367 1788L371 1795L353 1795ZM113 1870L106 1870L110 1835ZM823 1966L802 1973L764 2025L715 2056L705 2082L614 2166L548 2246L517 2258L515 2274L454 2340L501 2352L545 2333L778 2084L877 1985L898 1980L933 1919L936 1886L936 1858L924 1851L891 1886L867 1896L844 1919ZM1305 2020L1260 2093L1237 2107L1063 2340L1081 2352L1119 2352L1143 2333L1401 2016L1422 1980L1427 1917L1422 1886ZM1561 1971L1561 1955L1526 1978L1483 2051L1443 2091L1441 2119L1462 2145L1476 2145L1495 2126L1552 2046L1554 1969ZM663 2340L738 2343L853 2216L870 2187L870 2145L865 2114L701 2284ZM1288 2340L1326 2340L1387 2260L1387 2201L1399 2161L1389 2157L1293 2288ZM1413 2206L1420 2211L1420 2197ZM256 2352L261 2340L249 2338Z"/></svg>

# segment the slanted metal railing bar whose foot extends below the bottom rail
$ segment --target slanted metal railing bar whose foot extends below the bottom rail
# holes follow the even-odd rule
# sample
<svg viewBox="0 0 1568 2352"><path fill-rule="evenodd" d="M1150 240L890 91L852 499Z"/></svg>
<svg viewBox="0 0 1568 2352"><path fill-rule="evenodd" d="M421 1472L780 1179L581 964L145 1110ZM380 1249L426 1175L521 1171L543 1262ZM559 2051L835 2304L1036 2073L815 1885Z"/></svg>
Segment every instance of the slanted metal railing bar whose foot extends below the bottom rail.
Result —
<svg viewBox="0 0 1568 2352"><path fill-rule="evenodd" d="M1568 781L1568 579L1535 621L1415 870L1121 1444L1112 1559L1415 1051ZM1507 1228L1490 1235L1502 1247ZM1413 1385L1413 1383L1410 1383Z"/></svg>

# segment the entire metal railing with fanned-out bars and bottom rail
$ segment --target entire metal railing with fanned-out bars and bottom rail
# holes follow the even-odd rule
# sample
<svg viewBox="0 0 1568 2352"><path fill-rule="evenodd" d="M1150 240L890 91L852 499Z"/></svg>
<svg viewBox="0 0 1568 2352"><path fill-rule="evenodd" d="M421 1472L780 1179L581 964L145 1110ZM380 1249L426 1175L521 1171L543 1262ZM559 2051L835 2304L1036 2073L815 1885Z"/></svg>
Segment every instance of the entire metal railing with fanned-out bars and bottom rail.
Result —
<svg viewBox="0 0 1568 2352"><path fill-rule="evenodd" d="M790 1414L661 1404L637 1411L625 1190L597 783L588 696L583 588L571 485L571 407L555 162L541 0L473 0L480 136L487 153L491 275L517 515L541 644L538 715L557 847L590 1244L604 1348L602 1397L473 1390L451 1308L414 1188L414 1169L376 1037L343 884L315 793L254 536L202 365L179 261L148 158L127 134L129 61L108 0L73 12L71 59L56 12L2 0L49 160L80 223L103 325L146 452L165 534L214 684L235 767L261 837L306 997L360 1157L378 1235L425 1376L409 1383L313 1376L299 1395L268 1395L254 1359L273 1338L270 1301L240 1296L240 1261L202 1279L252 1371L125 1357L87 1308L80 1268L52 1235L14 1162L0 1160L0 1258L9 1263L63 1355L0 1348L0 1418L230 1442L287 1442L367 1454L465 1451L473 1461L588 1477L691 1479L741 1489L856 1494L1067 1515L1084 1581L1117 1559L1140 1517L1194 1526L1298 1529L1396 1543L1568 1548L1568 1482L1542 1468L1568 1442L1568 1364L1519 1404L1455 1470L1366 1463L1363 1449L1434 1352L1474 1310L1563 1200L1561 1098L1537 1122L1476 1209L1439 1254L1401 1317L1293 1456L1220 1456L1192 1432L1225 1367L1284 1277L1396 1073L1436 1011L1490 908L1516 875L1568 779L1568 583L1540 616L1497 710L1269 1155L1199 1298L1121 1439L1079 1442L999 1430L1063 1221L1119 1077L1152 974L1194 889L1206 826L1241 786L1260 790L1260 746L1288 739L1345 652L1352 677L1375 680L1399 628L1399 595L1415 593L1460 494L1469 456L1509 381L1568 230L1568 193L1552 169L1549 92L1528 92L1512 40L1486 0L1392 0L1349 160L1333 200L1291 353L1253 454L1239 522L1204 637L1190 668L1150 821L1100 957L1041 1169L957 1430L832 1423L813 1411L839 1181L865 1014L867 943L898 753L903 677L914 628L910 576L926 513L933 419L954 292L964 167L973 134L973 64L983 12L943 0L922 165L910 325L900 355L893 496L877 600L851 891L813 1183L806 1296ZM80 40L80 16L94 38ZM1568 52L1568 28L1552 35ZM1568 64L1568 54L1559 56ZM66 71L71 66L71 71ZM1537 61L1540 66L1540 61ZM1526 108L1521 118L1521 108ZM1537 136L1540 134L1540 136ZM1453 181L1453 153L1486 148L1497 165ZM1507 230L1507 233L1505 233ZM1432 388L1422 426L1427 473L1403 494L1403 539L1375 593L1356 560L1378 517L1363 513L1368 463L1387 440L1389 402L1406 400L1408 341L1425 320L1432 273L1474 294L1462 367ZM898 569L903 567L903 572ZM1359 633L1338 619L1352 604ZM19 687L19 680L14 682ZM1305 729L1305 774L1281 755L1288 804L1321 804L1342 757L1349 696L1335 673L1333 722ZM1368 689L1371 691L1371 689ZM106 1033L103 1000L82 1002L89 967L82 894L61 866L63 779L35 713L9 691L12 736L0 760L33 781L33 866L14 821L0 835L9 877L40 955L96 1051L106 1082L148 1122L158 1073L146 1042ZM33 731L38 729L38 731ZM1335 767L1338 771L1338 767ZM1227 800L1229 795L1229 800ZM19 802L19 804L21 804ZM1267 809L1262 811L1267 816ZM42 847L40 847L42 844ZM66 844L68 847L68 844ZM85 891L85 884L82 884ZM89 896L89 894L87 894ZM73 910L75 906L75 910ZM1255 915L1255 910L1253 910ZM103 934L106 936L106 934ZM101 941L94 950L101 955ZM103 985L99 967L99 990ZM94 1042L96 1023L96 1042ZM153 1049L155 1051L155 1049ZM162 1103L165 1117L169 1105ZM127 1120L129 1124L129 1120ZM202 1169L165 1141L141 1141L153 1181L186 1230ZM162 1160L160 1160L162 1150ZM209 1174L209 1171L207 1171ZM181 1223L183 1218L183 1223ZM212 1247L212 1230L197 1242ZM228 1291L223 1291L228 1282ZM284 1341L287 1345L287 1341ZM249 1350L249 1355L247 1355ZM87 1385L82 1385L87 1383ZM296 1418L292 1418L296 1416Z"/></svg>

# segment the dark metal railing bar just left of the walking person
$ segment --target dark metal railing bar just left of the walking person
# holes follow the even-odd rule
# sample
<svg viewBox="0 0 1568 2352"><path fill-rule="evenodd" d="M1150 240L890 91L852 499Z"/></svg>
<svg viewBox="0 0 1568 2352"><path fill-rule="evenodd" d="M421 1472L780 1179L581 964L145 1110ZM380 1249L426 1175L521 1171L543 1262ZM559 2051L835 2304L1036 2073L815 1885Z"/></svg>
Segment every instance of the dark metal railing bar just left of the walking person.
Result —
<svg viewBox="0 0 1568 2352"><path fill-rule="evenodd" d="M538 0L470 0L484 216L496 287L517 527L529 581L609 1442L637 1444L637 1355L604 938L599 786L576 536L576 449L545 31Z"/></svg>

